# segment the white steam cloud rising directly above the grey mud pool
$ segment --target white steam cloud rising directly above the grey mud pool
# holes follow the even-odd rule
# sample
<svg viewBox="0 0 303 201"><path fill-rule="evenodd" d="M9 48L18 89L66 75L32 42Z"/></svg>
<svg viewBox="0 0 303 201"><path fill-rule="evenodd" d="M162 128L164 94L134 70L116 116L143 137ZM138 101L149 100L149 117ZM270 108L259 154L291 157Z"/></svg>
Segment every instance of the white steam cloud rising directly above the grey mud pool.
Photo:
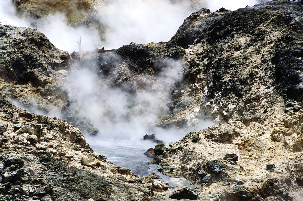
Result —
<svg viewBox="0 0 303 201"><path fill-rule="evenodd" d="M157 119L168 118L167 103L170 87L182 79L180 60L158 60L154 68L160 69L156 77L133 76L119 55L104 54L104 60L115 60L109 75L98 67L78 68L71 73L66 91L79 116L92 120L103 141L106 137L136 140L146 133L159 131ZM113 79L129 77L122 86Z"/></svg>

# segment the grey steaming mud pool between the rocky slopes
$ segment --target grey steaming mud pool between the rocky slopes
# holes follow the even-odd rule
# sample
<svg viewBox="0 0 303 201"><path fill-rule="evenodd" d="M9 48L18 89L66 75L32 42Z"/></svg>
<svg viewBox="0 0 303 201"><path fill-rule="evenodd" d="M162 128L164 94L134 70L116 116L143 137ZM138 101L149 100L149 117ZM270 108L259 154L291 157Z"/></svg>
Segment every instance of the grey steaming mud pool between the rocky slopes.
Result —
<svg viewBox="0 0 303 201"><path fill-rule="evenodd" d="M126 143L129 144L129 146L126 145ZM147 157L144 155L144 153L146 150L148 150L148 148L155 147L156 143L152 143L151 141L138 140L136 142L125 141L125 143L121 143L121 141L119 141L116 144L119 145L114 145L112 143L102 143L100 146L91 145L91 147L95 152L104 155L107 160L116 165L126 167L130 169L134 174L140 175L141 177L154 172L161 177L157 180L168 182L171 188L177 188L181 186L193 187L190 185L190 182L184 179L169 177L161 174L158 172L158 168L161 166L148 164L152 158Z"/></svg>

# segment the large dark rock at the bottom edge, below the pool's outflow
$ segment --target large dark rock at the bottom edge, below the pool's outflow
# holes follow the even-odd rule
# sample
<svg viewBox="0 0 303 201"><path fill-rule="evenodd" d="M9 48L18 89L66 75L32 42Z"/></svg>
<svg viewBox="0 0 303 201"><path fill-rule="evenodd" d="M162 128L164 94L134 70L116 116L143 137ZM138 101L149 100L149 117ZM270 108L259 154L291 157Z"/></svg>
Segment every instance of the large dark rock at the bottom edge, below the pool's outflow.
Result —
<svg viewBox="0 0 303 201"><path fill-rule="evenodd" d="M164 195L171 199L200 200L199 196L188 186L172 189L165 192Z"/></svg>

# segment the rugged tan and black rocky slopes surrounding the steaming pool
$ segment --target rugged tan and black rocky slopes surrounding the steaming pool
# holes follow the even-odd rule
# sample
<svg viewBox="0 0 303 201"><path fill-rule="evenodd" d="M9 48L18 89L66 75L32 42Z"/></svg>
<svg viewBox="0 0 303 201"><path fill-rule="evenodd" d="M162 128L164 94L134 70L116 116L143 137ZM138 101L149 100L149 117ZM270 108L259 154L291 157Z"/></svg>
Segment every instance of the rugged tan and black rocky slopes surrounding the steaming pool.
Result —
<svg viewBox="0 0 303 201"><path fill-rule="evenodd" d="M156 112L158 126L195 125L209 118L221 123L170 144L159 171L192 181L201 200L301 200L301 13L298 2L286 0L234 12L201 9L169 42L131 43L87 54L81 62L77 57L62 62L64 53L36 30L0 26L2 177L15 175L2 182L2 199L45 200L49 194L53 200L170 200L156 192L153 176L137 178L92 153L82 133L67 122L28 113L9 100L25 106L35 100L39 109L60 111L62 119L96 134L89 119L74 115L79 103L64 88L68 74L94 70L101 85L136 97L158 87L154 81L165 61L181 59L183 78L173 82L169 104ZM131 107L131 114L144 111L144 105ZM13 124L19 123L17 131ZM45 135L37 140L27 135L26 123L40 125ZM91 155L96 164L85 166L82 155ZM13 156L22 164L7 162ZM37 194L40 188L45 192Z"/></svg>

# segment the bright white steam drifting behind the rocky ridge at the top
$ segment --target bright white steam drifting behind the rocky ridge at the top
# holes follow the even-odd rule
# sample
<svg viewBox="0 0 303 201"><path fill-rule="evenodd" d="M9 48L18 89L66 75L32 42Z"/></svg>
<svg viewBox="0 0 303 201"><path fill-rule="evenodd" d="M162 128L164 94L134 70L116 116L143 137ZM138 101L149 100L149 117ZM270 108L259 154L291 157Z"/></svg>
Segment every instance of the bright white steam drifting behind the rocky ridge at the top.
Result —
<svg viewBox="0 0 303 201"><path fill-rule="evenodd" d="M0 22L37 28L57 48L69 52L78 50L76 41L80 36L83 51L95 49L97 46L117 49L130 42L166 42L176 33L187 16L202 7L213 12L221 7L235 10L264 1L266 0L102 0L96 6L100 22L107 27L102 30L102 35L99 35L100 30L97 28L69 26L62 13L42 17L32 25L17 17L12 1L0 2Z"/></svg>

